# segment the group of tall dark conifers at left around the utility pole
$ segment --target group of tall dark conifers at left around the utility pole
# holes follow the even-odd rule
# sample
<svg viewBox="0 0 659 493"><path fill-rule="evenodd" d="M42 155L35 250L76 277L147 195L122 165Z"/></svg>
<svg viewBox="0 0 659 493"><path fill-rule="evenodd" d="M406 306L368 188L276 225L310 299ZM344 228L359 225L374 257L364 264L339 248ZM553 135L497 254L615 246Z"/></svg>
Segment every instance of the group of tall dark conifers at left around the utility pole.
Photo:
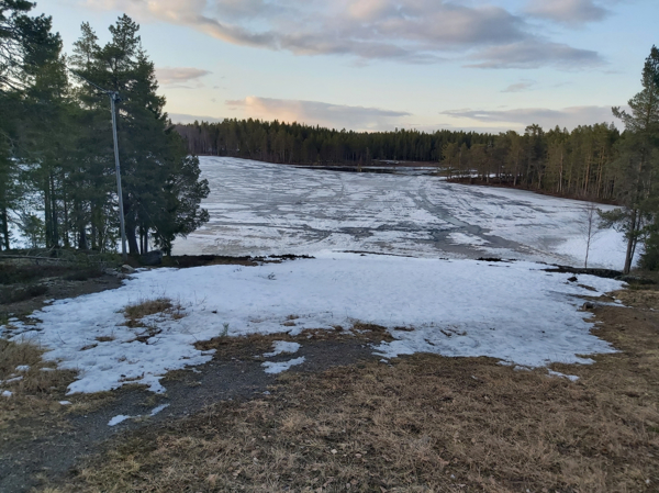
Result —
<svg viewBox="0 0 659 493"><path fill-rule="evenodd" d="M118 195L109 94L116 92L126 239L168 251L206 221L208 183L164 112L139 26L124 15L99 45L89 24L70 56L33 4L0 1L0 249L13 222L34 247L113 251ZM35 214L42 211L43 214ZM10 214L11 213L11 214Z"/></svg>

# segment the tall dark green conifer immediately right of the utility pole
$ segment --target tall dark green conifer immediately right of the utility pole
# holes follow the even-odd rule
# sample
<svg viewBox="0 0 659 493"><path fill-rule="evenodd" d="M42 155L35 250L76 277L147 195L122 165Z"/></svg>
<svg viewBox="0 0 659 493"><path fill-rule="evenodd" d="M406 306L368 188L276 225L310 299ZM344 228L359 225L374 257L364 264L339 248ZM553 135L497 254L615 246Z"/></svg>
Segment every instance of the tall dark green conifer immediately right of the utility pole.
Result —
<svg viewBox="0 0 659 493"><path fill-rule="evenodd" d="M110 26L112 40L100 47L91 27L83 24L74 57L83 77L119 92L122 98L118 133L124 220L132 255L145 253L149 237L169 253L177 235L188 234L192 226L208 221L208 213L199 203L209 193L208 184L199 181L199 161L187 156L182 139L169 128L165 98L157 94L154 64L142 47L138 31L139 26L123 15ZM80 100L94 115L107 112L107 97L102 94L85 89L80 91ZM103 125L102 117L91 120ZM102 134L105 158L97 165L104 168L102 176L109 176L113 166L107 158L111 156L108 148L111 133ZM92 217L98 209L92 203Z"/></svg>

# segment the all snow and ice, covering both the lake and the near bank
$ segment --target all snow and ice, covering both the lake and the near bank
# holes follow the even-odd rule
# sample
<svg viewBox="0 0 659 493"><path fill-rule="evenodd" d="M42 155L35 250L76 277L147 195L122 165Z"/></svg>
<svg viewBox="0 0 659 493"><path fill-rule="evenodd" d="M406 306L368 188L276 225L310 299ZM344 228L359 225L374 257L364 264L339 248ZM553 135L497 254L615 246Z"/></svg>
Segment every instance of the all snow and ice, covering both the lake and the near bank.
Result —
<svg viewBox="0 0 659 493"><path fill-rule="evenodd" d="M213 352L196 349L196 343L227 326L232 336L299 335L362 321L388 327L394 337L375 348L382 358L426 351L489 356L528 368L587 363L578 355L613 351L591 334L577 296L623 284L580 276L590 291L567 282L570 274L534 264L582 261L583 202L429 176L340 173L234 158L202 158L201 168L212 189L204 202L211 222L177 240L175 253L315 258L138 270L120 289L54 301L34 314L36 325L12 317L0 336L33 339L48 349L46 359L77 370L68 393L126 383L164 392L163 376L208 362ZM482 256L524 261L465 260ZM593 266L619 268L623 258L619 233L606 229L595 238ZM180 302L186 316L149 318L160 330L153 337L124 325L123 307L161 296ZM294 326L291 313L299 316ZM395 329L402 326L413 329ZM298 349L297 343L278 341L266 356ZM275 372L303 360L265 367Z"/></svg>

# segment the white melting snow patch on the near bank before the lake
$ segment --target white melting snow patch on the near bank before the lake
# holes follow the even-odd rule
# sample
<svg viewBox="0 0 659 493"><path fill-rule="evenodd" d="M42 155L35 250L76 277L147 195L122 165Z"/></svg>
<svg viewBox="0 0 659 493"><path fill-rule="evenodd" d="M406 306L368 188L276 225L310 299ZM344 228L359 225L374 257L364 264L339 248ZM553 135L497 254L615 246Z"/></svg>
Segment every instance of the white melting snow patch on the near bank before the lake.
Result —
<svg viewBox="0 0 659 493"><path fill-rule="evenodd" d="M393 358L418 351L444 356L489 356L511 365L590 362L577 355L612 352L590 333L576 295L619 289L618 281L545 272L532 262L489 264L323 251L314 259L258 267L211 266L141 271L116 290L60 300L34 314L38 322L14 322L0 335L31 338L51 350L48 360L76 369L69 393L98 392L142 383L163 392L170 370L202 365L212 351L200 340L253 333L300 334L305 328L350 327L364 321L388 327L396 340L375 351ZM174 320L152 315L159 332L124 324L122 309L156 298L183 307ZM294 317L291 317L293 315ZM295 326L284 326L294 318ZM396 330L410 327L412 330ZM4 334L2 334L4 333ZM272 352L298 347L276 345ZM279 351L279 352L278 352ZM288 361L299 365L302 358ZM278 366L279 365L279 366ZM282 363L266 365L266 371Z"/></svg>

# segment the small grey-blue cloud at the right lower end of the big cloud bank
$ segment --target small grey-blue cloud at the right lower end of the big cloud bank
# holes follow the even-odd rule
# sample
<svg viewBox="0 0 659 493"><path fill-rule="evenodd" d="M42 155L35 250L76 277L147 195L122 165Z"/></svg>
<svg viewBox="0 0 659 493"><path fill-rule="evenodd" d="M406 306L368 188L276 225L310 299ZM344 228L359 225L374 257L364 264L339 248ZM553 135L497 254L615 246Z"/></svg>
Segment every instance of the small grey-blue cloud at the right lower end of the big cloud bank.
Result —
<svg viewBox="0 0 659 493"><path fill-rule="evenodd" d="M482 61L467 67L528 69L554 66L565 70L578 70L605 65L597 52L541 41L493 46L472 55L471 58Z"/></svg>

